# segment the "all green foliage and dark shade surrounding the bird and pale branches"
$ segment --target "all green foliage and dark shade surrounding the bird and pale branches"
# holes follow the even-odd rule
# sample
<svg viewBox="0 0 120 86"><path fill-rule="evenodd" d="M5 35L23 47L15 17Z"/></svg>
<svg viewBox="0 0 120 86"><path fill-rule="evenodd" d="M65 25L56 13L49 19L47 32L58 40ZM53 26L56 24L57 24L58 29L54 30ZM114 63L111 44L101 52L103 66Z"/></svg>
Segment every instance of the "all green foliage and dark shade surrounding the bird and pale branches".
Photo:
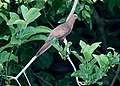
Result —
<svg viewBox="0 0 120 86"><path fill-rule="evenodd" d="M65 22L72 5L73 0L0 0L1 86L17 85L7 76L20 72L52 29ZM27 69L32 86L76 86L74 76L87 85L112 86L116 71L120 70L115 65L120 63L120 0L79 0L75 13L78 19L67 36L68 44L53 39L54 47ZM71 49L76 72L65 58L66 48ZM24 77L19 80L22 86L27 85ZM119 86L119 73L115 81L114 85Z"/></svg>

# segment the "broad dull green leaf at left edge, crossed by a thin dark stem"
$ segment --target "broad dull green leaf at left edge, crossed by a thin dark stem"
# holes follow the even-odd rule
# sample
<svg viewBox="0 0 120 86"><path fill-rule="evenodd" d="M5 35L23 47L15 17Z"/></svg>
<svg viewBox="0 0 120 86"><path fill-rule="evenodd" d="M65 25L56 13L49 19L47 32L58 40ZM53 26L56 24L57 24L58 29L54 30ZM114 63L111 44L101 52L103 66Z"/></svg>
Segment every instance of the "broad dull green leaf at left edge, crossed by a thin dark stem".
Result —
<svg viewBox="0 0 120 86"><path fill-rule="evenodd" d="M9 52L7 51L3 51L0 53L0 63L4 63L6 61L11 61L11 60L14 60L15 62L18 62L18 57L15 56L14 54L10 54Z"/></svg>

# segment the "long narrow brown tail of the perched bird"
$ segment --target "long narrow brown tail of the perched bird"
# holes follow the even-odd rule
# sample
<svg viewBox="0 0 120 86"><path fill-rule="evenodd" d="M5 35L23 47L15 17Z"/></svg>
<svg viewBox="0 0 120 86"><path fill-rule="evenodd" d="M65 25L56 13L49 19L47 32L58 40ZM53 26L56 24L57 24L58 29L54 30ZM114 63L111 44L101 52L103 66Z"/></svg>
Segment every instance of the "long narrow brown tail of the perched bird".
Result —
<svg viewBox="0 0 120 86"><path fill-rule="evenodd" d="M49 49L51 47L51 43L50 42L46 42L40 49L39 51L36 53L35 56L40 56L41 54L43 54L47 49Z"/></svg>

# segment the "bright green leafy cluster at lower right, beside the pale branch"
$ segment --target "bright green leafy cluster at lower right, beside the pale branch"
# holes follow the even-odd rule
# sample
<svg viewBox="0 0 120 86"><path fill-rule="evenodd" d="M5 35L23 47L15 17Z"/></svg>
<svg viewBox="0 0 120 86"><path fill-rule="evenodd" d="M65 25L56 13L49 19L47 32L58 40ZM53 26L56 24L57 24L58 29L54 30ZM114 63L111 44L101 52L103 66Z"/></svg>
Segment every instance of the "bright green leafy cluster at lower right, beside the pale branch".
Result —
<svg viewBox="0 0 120 86"><path fill-rule="evenodd" d="M103 76L106 76L108 70L111 67L114 67L115 64L120 63L120 54L113 50L112 52L108 52L107 55L93 54L95 49L100 45L100 42L93 43L91 46L86 44L83 41L80 41L81 53L83 56L80 56L76 51L72 51L72 53L80 60L81 64L79 65L79 69L72 74L72 76L78 76L84 80L84 83L101 84L98 80ZM98 63L99 65L97 65Z"/></svg>

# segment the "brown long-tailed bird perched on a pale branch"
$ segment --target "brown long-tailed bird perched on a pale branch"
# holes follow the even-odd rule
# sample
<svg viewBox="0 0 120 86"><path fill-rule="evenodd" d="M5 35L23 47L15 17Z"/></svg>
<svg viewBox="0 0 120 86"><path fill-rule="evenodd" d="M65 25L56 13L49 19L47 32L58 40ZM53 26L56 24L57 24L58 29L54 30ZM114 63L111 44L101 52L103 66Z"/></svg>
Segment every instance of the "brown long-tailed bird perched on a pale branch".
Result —
<svg viewBox="0 0 120 86"><path fill-rule="evenodd" d="M70 32L72 31L74 22L77 19L77 17L78 17L77 14L73 14L73 15L71 15L71 17L68 21L66 21L63 24L58 25L55 29L53 29L53 31L48 36L48 40L39 49L39 51L36 53L35 56L36 57L40 56L42 53L44 53L47 49L49 49L51 47L52 44L51 44L50 40L53 37L56 37L60 40L63 40L64 38L66 38L66 36L69 35Z"/></svg>

